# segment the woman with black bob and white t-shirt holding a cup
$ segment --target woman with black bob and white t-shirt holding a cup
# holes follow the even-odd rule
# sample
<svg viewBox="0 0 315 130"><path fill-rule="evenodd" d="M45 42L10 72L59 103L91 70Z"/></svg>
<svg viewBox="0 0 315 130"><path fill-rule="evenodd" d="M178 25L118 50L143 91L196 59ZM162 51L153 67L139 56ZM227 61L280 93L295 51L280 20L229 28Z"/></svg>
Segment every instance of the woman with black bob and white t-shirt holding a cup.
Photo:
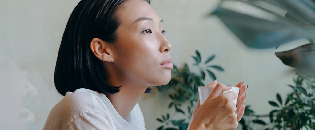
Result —
<svg viewBox="0 0 315 130"><path fill-rule="evenodd" d="M49 113L44 130L143 130L138 100L149 86L170 81L172 46L149 0L82 0L63 34L55 86L65 97ZM237 94L215 80L188 129L234 129L244 113L246 85ZM149 127L149 126L147 126Z"/></svg>

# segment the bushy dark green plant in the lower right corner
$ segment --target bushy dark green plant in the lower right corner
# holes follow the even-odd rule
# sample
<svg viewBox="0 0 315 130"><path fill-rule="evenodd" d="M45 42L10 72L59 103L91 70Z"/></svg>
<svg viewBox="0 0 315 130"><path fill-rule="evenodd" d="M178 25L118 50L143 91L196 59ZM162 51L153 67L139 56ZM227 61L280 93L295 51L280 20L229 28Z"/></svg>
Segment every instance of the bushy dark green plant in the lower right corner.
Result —
<svg viewBox="0 0 315 130"><path fill-rule="evenodd" d="M253 124L263 125L261 129L315 129L315 79L298 74L293 79L295 85L288 85L293 89L292 93L287 95L286 100L282 100L279 93L276 94L276 101L269 101L269 104L276 107L267 115L255 115L253 110L247 109L245 118L249 119L247 123L244 119L240 121L243 130L252 130ZM246 110L245 110L246 111ZM249 112L250 111L250 112ZM254 118L250 118L254 117ZM261 117L269 117L270 122L262 121Z"/></svg>

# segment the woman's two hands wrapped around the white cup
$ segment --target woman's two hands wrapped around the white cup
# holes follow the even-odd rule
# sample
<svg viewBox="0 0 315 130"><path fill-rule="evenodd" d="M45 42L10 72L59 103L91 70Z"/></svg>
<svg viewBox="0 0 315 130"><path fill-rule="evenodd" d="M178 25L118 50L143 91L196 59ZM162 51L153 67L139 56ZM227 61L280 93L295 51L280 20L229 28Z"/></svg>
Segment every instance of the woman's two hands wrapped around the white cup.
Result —
<svg viewBox="0 0 315 130"><path fill-rule="evenodd" d="M192 113L192 122L188 129L234 129L238 125L238 121L244 114L245 90L247 86L243 86L240 82L236 87L240 88L238 105L236 106L232 100L236 98L236 93L228 92L221 94L223 91L232 87L223 84L217 84L217 80L207 86L216 86L214 91L206 99L205 104L200 107L198 100L195 110ZM207 102L207 103L206 103Z"/></svg>

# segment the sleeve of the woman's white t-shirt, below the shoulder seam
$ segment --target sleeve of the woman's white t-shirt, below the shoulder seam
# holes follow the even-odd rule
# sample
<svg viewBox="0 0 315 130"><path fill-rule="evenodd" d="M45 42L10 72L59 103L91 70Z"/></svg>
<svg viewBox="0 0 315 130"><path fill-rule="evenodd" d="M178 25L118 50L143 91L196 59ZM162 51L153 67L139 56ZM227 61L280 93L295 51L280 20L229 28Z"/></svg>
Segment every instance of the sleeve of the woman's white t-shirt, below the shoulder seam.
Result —
<svg viewBox="0 0 315 130"><path fill-rule="evenodd" d="M85 112L74 118L65 130L115 130L106 116L99 112Z"/></svg>

